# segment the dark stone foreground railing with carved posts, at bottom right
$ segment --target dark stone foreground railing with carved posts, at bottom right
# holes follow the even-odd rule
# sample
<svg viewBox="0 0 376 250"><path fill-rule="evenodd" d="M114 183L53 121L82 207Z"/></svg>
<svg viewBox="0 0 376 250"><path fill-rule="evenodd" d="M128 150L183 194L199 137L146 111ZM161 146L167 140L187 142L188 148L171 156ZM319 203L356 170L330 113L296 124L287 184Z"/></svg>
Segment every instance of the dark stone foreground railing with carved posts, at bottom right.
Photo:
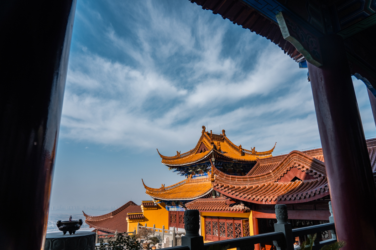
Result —
<svg viewBox="0 0 376 250"><path fill-rule="evenodd" d="M330 202L329 208L331 208ZM291 223L288 223L288 213L286 205L276 205L275 211L277 223L274 224L274 232L241 237L231 240L214 241L204 244L203 237L199 235L199 210L186 210L184 213L186 235L182 236L182 246L170 247L168 248L168 250L207 250L211 246L214 246L215 249L221 249L222 247L229 246L229 249L236 248L237 250L254 250L255 244L271 241L273 242L273 245L276 246L277 250L294 250L295 237L320 233L328 230L331 230L332 232L332 239L319 242L319 237L317 237L317 240L312 246L312 250L319 250L324 245L337 241L332 210L332 216L329 217L330 223L297 229L292 229Z"/></svg>

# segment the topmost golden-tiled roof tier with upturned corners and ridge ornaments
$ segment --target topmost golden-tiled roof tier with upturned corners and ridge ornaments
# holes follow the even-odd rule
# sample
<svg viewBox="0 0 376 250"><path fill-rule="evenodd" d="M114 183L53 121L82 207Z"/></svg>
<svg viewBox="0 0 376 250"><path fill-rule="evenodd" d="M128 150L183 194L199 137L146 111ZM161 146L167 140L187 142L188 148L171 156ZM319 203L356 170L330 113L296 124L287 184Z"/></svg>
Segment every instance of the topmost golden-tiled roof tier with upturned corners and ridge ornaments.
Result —
<svg viewBox="0 0 376 250"><path fill-rule="evenodd" d="M205 126L202 126L202 134L199 141L196 144L196 147L192 150L180 154L177 152L176 156L163 156L158 154L162 158L162 163L168 166L183 166L207 158L209 154L214 152L215 154L225 157L229 160L237 160L242 162L255 162L257 159L270 157L274 148L268 151L257 152L253 150L246 150L241 147L233 144L226 136L224 130L222 134L214 134L212 132L206 132Z"/></svg>

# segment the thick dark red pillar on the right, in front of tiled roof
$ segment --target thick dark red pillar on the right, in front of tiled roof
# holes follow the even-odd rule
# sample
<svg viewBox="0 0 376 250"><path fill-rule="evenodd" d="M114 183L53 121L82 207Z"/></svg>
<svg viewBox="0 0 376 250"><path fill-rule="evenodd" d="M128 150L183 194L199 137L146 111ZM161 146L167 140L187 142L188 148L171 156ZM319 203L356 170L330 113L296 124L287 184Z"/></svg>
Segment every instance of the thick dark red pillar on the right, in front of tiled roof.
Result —
<svg viewBox="0 0 376 250"><path fill-rule="evenodd" d="M338 35L320 39L323 66L308 63L338 240L374 249L376 187L350 69Z"/></svg>

